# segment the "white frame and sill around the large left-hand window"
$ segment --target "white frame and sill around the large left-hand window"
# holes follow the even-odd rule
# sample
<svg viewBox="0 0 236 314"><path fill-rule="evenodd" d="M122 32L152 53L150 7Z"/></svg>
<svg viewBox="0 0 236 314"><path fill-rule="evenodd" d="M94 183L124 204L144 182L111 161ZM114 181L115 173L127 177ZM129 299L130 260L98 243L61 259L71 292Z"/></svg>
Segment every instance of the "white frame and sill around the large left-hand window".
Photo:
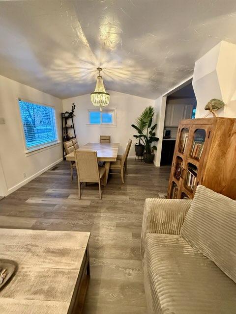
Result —
<svg viewBox="0 0 236 314"><path fill-rule="evenodd" d="M51 108L54 109L55 129L56 129L56 135L57 135L56 140L50 141L50 142L41 143L41 144L38 144L38 145L34 145L32 147L29 147L29 148L27 147L26 135L25 135L25 130L24 130L24 123L23 123L23 120L22 120L21 108L20 108L19 101L23 101L23 102L34 104L34 105L51 107ZM25 156L33 155L33 154L37 153L36 151L43 151L45 149L51 148L51 146L60 144L59 134L58 134L57 111L56 111L56 108L55 108L54 105L42 104L42 103L35 102L35 101L29 100L29 99L25 99L25 98L22 98L22 97L19 97L17 99L17 105L18 105L18 110L19 110L19 118L20 118L20 124L21 124L22 138L23 138L24 148L25 148Z"/></svg>

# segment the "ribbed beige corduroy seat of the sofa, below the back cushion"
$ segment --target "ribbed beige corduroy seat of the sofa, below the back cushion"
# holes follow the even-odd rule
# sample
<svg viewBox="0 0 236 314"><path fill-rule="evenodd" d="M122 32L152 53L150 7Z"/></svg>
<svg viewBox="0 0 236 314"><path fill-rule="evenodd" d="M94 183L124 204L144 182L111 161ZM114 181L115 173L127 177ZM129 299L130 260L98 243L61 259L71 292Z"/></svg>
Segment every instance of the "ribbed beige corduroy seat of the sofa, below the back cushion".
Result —
<svg viewBox="0 0 236 314"><path fill-rule="evenodd" d="M146 236L144 273L149 314L236 313L236 284L179 235Z"/></svg>

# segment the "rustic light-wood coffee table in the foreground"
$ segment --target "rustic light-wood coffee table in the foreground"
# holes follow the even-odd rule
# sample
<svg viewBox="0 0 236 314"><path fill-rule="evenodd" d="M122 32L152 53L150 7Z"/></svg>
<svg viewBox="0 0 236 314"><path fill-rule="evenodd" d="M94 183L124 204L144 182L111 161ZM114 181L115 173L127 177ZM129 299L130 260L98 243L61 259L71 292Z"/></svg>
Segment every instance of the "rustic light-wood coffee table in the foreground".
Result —
<svg viewBox="0 0 236 314"><path fill-rule="evenodd" d="M89 283L89 232L0 229L0 258L18 270L0 314L78 314Z"/></svg>

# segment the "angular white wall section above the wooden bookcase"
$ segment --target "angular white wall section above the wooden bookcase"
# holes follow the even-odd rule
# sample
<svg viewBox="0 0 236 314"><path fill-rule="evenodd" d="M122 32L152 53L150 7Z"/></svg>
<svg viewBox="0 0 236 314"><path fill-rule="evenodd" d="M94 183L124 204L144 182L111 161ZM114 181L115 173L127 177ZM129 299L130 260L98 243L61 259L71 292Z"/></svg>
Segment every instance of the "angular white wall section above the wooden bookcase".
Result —
<svg viewBox="0 0 236 314"><path fill-rule="evenodd" d="M193 88L197 98L196 118L207 114L204 107L212 98L227 104L217 111L220 117L236 118L236 45L221 41L197 60Z"/></svg>

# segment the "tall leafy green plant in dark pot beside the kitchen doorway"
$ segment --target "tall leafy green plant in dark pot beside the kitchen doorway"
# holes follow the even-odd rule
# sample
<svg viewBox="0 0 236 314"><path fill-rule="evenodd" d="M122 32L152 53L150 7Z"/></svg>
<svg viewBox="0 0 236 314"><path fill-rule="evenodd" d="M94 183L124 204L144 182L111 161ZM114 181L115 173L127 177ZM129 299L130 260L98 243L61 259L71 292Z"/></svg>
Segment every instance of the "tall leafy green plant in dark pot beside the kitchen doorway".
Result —
<svg viewBox="0 0 236 314"><path fill-rule="evenodd" d="M139 135L134 135L135 138L139 139L139 142L135 145L135 152L136 146L140 147L143 146L143 150L145 151L144 154L144 161L146 163L151 163L154 159L154 150L157 150L155 145L152 145L153 142L157 142L159 140L158 137L155 136L155 128L157 124L152 124L152 118L154 115L154 109L152 106L148 106L144 109L142 114L136 119L136 125L132 124L132 127L138 131ZM141 143L143 142L143 144ZM141 144L141 145L140 145ZM139 149L139 148L138 148ZM143 151L143 152L144 152ZM138 155L138 154L137 154ZM141 156L141 155L138 155Z"/></svg>

